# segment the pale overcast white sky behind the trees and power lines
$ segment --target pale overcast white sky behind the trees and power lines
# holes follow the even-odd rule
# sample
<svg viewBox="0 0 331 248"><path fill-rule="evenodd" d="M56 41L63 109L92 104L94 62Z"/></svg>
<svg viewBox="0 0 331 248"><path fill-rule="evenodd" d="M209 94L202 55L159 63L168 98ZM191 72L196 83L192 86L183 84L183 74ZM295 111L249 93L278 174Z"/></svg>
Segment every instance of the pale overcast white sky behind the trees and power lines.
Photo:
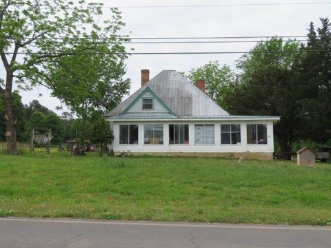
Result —
<svg viewBox="0 0 331 248"><path fill-rule="evenodd" d="M74 0L78 1L78 0ZM94 0L105 6L183 6L206 4L241 3L302 3L318 0ZM326 1L324 1L326 2ZM329 1L331 3L331 1ZM284 6L223 6L200 8L120 8L126 27L121 34L131 37L240 37L305 35L310 22L319 26L319 17L329 17L331 4L284 5ZM103 18L110 10L103 9ZM233 39L232 39L233 40ZM257 40L257 39L254 39ZM248 51L254 43L216 44L130 44L134 52L221 52ZM130 93L141 86L140 71L150 70L150 79L161 70L188 72L209 61L219 61L235 70L241 54L194 54L194 55L132 55L127 61L126 77L132 79ZM3 68L0 69L3 78ZM20 91L22 101L28 104L37 99L50 110L60 105L44 87ZM40 94L42 96L40 96ZM125 96L124 99L128 97Z"/></svg>

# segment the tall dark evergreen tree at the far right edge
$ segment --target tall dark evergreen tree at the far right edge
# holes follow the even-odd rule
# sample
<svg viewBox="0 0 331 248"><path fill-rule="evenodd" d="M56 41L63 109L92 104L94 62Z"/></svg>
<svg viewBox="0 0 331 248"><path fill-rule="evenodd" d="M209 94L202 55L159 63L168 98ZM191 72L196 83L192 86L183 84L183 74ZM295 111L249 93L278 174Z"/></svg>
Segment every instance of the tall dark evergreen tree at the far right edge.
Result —
<svg viewBox="0 0 331 248"><path fill-rule="evenodd" d="M305 139L325 143L331 138L331 23L321 19L321 28L310 23L307 52L294 70L301 87L299 113L301 133Z"/></svg>

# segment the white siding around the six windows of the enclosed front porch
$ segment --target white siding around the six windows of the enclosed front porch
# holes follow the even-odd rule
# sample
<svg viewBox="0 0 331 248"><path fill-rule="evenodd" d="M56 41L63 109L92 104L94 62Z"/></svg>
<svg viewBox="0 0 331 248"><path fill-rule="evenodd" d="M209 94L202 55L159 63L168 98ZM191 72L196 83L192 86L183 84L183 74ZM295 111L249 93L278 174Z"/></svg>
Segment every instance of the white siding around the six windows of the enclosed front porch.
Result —
<svg viewBox="0 0 331 248"><path fill-rule="evenodd" d="M131 123L123 123L121 125L128 125ZM272 121L195 121L195 122L160 122L149 121L140 122L139 124L139 144L138 145L119 145L119 123L114 123L114 152L274 152L274 138L273 138L273 123ZM163 124L163 145L145 145L143 142L144 124ZM188 124L189 125L189 145L169 145L169 124ZM214 145L195 145L195 124L213 124L215 144ZM241 124L241 145L221 145L221 124ZM247 144L247 124L267 124L267 145L248 145Z"/></svg>

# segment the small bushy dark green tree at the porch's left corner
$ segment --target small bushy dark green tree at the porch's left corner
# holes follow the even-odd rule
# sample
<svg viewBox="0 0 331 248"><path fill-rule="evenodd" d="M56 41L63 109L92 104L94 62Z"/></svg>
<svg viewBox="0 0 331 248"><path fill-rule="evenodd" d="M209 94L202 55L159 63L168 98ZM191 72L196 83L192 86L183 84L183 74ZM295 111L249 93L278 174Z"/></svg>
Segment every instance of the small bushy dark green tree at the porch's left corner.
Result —
<svg viewBox="0 0 331 248"><path fill-rule="evenodd" d="M92 142L99 144L100 156L103 154L103 149L107 144L111 144L114 140L112 130L109 123L104 118L99 118L94 122L92 128Z"/></svg>

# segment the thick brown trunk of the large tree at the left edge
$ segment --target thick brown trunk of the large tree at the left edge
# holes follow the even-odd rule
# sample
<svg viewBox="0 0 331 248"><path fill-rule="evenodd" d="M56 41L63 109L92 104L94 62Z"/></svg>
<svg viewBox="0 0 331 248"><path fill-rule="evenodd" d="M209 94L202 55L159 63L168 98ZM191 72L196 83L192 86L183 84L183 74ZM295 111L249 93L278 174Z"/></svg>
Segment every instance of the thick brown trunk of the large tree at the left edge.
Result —
<svg viewBox="0 0 331 248"><path fill-rule="evenodd" d="M7 75L6 84L12 85L12 75ZM8 154L18 154L16 141L16 120L12 112L12 88L6 87L3 92L3 102L5 105L5 125Z"/></svg>

